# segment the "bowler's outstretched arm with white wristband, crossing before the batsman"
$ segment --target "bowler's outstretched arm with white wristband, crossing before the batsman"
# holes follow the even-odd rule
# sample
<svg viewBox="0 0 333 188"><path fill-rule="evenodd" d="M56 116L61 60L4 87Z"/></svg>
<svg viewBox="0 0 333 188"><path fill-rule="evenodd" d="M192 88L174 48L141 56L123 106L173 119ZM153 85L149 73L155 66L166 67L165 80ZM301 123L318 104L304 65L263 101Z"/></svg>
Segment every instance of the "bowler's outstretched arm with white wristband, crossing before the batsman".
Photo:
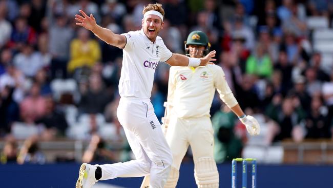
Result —
<svg viewBox="0 0 333 188"><path fill-rule="evenodd" d="M209 54L207 54L203 58L189 58L185 55L173 53L172 57L166 61L171 66L192 66L190 61L197 61L197 64L195 66L205 66L207 64L214 64L212 61L216 61L216 59L213 59L215 57L216 51L211 51ZM189 65L190 64L190 65Z"/></svg>

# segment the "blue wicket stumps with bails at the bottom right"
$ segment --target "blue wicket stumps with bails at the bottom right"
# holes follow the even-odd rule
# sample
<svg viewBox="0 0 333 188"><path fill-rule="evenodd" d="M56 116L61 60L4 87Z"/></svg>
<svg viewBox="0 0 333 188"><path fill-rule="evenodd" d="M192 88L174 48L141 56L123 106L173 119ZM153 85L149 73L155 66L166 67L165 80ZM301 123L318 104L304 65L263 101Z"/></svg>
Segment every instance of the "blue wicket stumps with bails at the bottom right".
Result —
<svg viewBox="0 0 333 188"><path fill-rule="evenodd" d="M232 161L231 169L231 187L237 188L237 162L242 162L242 188L247 186L247 162L252 162L252 188L257 187L257 159L254 158L236 158Z"/></svg>

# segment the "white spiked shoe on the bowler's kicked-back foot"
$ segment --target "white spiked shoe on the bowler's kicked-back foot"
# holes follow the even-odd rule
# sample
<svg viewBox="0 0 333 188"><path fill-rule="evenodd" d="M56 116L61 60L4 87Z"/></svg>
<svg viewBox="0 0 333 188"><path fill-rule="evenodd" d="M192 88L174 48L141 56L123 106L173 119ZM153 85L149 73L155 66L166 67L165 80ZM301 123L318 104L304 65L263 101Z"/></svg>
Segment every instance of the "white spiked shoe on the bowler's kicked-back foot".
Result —
<svg viewBox="0 0 333 188"><path fill-rule="evenodd" d="M82 163L75 188L91 188L98 180L95 178L96 166Z"/></svg>

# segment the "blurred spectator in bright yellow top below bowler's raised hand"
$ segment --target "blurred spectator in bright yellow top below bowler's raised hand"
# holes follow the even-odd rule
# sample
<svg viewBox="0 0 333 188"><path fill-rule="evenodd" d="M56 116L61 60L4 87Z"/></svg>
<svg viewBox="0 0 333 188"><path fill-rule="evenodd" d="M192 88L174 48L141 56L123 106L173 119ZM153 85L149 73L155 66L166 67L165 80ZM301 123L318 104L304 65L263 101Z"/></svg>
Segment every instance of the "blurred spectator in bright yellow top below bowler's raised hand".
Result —
<svg viewBox="0 0 333 188"><path fill-rule="evenodd" d="M70 44L71 59L68 71L71 73L84 66L92 67L101 59L99 45L96 40L90 39L89 34L88 30L80 28L77 39L73 39Z"/></svg>

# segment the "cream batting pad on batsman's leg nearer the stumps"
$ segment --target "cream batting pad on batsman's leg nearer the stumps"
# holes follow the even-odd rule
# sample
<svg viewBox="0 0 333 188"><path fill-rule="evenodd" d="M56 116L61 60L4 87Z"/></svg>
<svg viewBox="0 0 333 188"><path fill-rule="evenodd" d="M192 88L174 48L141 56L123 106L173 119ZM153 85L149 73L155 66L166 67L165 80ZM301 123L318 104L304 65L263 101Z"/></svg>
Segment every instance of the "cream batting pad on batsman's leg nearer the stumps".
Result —
<svg viewBox="0 0 333 188"><path fill-rule="evenodd" d="M219 187L219 173L212 157L201 157L195 161L194 177L199 188Z"/></svg>

